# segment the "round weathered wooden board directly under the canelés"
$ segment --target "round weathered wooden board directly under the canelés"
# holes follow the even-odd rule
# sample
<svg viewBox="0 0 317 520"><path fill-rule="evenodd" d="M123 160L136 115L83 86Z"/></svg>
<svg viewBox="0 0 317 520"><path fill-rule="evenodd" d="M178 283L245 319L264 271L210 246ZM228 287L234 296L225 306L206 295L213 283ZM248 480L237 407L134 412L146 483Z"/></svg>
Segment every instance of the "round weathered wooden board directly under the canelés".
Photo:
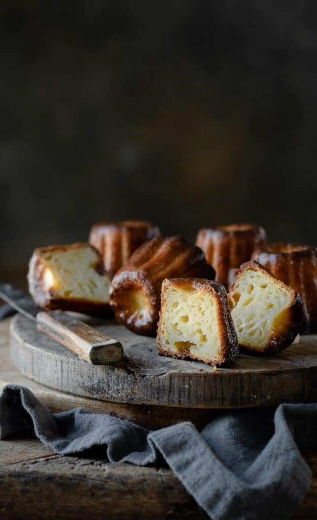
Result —
<svg viewBox="0 0 317 520"><path fill-rule="evenodd" d="M279 355L241 354L218 368L157 355L154 338L129 332L114 321L87 321L121 341L125 358L93 366L17 315L11 322L11 359L28 378L71 394L126 404L189 408L275 406L317 400L317 335Z"/></svg>

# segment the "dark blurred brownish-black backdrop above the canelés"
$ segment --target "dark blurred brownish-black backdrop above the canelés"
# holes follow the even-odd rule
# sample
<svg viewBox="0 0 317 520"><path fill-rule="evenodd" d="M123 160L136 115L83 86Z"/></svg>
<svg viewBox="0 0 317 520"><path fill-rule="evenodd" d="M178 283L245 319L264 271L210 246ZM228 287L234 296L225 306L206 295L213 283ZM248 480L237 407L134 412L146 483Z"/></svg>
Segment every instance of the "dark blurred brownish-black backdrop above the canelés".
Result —
<svg viewBox="0 0 317 520"><path fill-rule="evenodd" d="M0 4L0 276L97 220L317 245L317 4Z"/></svg>

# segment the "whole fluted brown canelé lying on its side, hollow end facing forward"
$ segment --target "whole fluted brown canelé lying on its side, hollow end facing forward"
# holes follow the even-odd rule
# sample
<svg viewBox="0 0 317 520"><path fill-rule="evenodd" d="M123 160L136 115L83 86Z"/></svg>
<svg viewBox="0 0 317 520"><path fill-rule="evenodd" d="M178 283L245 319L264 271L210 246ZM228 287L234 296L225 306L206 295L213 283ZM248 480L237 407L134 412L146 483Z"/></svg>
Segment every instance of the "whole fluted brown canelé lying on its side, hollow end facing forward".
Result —
<svg viewBox="0 0 317 520"><path fill-rule="evenodd" d="M138 334L155 335L162 282L176 276L213 280L215 271L203 251L185 238L160 235L141 245L111 283L110 305L117 320Z"/></svg>

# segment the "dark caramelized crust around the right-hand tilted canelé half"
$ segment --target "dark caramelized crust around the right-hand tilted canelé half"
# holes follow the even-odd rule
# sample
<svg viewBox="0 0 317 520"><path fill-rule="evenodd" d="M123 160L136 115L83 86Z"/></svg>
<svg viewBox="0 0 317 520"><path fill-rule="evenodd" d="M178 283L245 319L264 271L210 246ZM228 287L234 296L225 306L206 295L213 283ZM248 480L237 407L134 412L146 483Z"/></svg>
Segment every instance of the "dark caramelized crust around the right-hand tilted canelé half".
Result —
<svg viewBox="0 0 317 520"><path fill-rule="evenodd" d="M235 306L234 293L236 290L236 285L240 278L244 275L245 271L249 269L262 272L266 276L270 277L270 279L274 280L276 285L287 289L292 295L292 301L289 307L283 312L283 316L280 317L279 323L276 324L273 330L271 330L268 341L261 351L258 349L253 349L250 346L243 345L241 342L239 342L239 346L241 348L245 348L248 351L252 350L252 352L256 354L276 354L291 345L297 334L300 332L300 325L303 317L302 300L300 295L292 287L289 287L289 285L285 284L282 280L276 278L271 274L271 272L269 272L258 262L250 261L243 264L240 269L237 270L236 276L229 290L228 298L231 309Z"/></svg>

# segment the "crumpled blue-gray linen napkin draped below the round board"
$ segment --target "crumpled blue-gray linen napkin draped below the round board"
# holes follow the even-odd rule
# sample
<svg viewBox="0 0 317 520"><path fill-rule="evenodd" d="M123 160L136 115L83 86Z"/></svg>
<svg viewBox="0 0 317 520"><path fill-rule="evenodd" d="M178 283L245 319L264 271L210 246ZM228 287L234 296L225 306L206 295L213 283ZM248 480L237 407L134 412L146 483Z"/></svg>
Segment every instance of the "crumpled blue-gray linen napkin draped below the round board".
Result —
<svg viewBox="0 0 317 520"><path fill-rule="evenodd" d="M316 426L315 404L228 412L201 433L188 422L153 432L82 408L51 413L18 385L0 396L0 438L34 432L60 454L99 447L110 462L137 465L161 453L213 520L289 518L311 479L298 447L317 447Z"/></svg>

